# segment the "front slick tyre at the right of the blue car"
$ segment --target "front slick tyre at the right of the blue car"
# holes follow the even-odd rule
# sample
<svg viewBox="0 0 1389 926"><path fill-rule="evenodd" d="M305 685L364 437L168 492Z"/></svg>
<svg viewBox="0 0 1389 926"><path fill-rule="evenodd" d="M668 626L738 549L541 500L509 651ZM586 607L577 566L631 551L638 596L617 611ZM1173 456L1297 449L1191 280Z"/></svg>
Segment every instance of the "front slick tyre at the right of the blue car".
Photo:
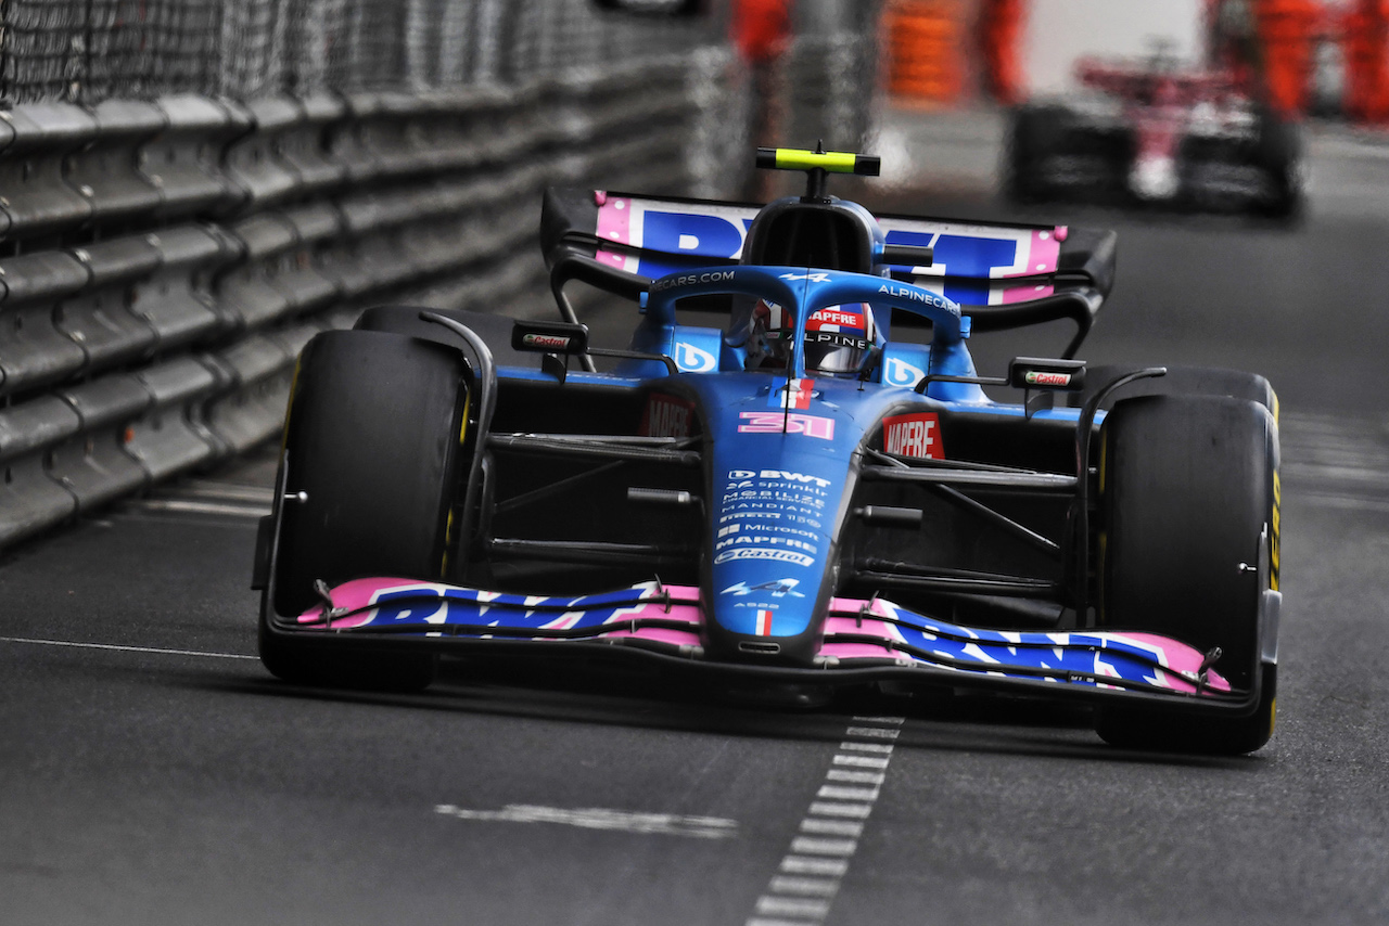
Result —
<svg viewBox="0 0 1389 926"><path fill-rule="evenodd" d="M1220 647L1214 669L1260 698L1246 716L1106 705L1097 732L1129 748L1251 752L1272 734L1278 682L1260 628L1278 587L1274 418L1245 398L1145 396L1118 403L1100 439L1099 623Z"/></svg>

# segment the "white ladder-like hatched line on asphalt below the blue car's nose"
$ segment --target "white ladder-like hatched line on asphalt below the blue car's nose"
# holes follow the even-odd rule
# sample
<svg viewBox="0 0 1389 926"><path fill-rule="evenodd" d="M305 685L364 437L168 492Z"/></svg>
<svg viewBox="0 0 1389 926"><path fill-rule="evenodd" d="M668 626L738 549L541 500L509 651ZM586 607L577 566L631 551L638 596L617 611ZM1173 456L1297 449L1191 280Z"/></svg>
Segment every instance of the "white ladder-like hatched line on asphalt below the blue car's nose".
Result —
<svg viewBox="0 0 1389 926"><path fill-rule="evenodd" d="M792 839L746 926L814 926L829 915L892 761L893 746L885 740L896 740L904 721L856 716L845 730L847 739L800 822L801 834Z"/></svg>

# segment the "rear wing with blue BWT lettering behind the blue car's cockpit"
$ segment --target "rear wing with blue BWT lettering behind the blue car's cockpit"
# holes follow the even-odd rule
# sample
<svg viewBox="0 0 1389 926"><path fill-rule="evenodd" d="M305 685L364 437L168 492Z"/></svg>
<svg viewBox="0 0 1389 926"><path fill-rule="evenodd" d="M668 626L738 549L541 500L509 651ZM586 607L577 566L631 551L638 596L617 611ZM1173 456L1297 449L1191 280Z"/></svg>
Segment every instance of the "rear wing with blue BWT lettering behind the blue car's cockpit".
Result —
<svg viewBox="0 0 1389 926"><path fill-rule="evenodd" d="M551 187L544 194L540 246L551 273L565 279L601 286L596 278L606 275L592 267L572 272L565 258L578 254L590 258L585 265L596 261L617 271L614 279L650 280L694 267L738 264L761 208ZM892 214L874 218L885 244L933 251L929 267L878 264L874 269L886 268L896 279L954 300L975 332L1068 318L1076 335L1064 355L1072 357L1114 285L1114 232Z"/></svg>

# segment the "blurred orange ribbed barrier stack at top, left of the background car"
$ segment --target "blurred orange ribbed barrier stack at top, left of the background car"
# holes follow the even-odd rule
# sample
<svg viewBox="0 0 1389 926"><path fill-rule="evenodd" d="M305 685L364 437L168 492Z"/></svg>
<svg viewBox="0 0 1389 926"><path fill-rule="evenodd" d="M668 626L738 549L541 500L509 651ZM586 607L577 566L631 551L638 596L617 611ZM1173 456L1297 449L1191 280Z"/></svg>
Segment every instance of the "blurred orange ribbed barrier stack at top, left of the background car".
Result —
<svg viewBox="0 0 1389 926"><path fill-rule="evenodd" d="M964 89L963 0L893 0L886 12L888 89L949 104Z"/></svg>

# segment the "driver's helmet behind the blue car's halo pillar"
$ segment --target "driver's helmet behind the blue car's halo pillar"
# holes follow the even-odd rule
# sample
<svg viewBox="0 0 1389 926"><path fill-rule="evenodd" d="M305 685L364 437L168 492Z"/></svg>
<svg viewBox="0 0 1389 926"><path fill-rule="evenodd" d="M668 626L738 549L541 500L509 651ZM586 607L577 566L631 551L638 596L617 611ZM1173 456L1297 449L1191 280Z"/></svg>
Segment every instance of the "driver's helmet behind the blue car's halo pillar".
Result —
<svg viewBox="0 0 1389 926"><path fill-rule="evenodd" d="M785 369L796 319L790 310L758 300L747 339L749 369ZM878 344L878 326L868 303L826 305L806 322L806 372L853 376Z"/></svg>

